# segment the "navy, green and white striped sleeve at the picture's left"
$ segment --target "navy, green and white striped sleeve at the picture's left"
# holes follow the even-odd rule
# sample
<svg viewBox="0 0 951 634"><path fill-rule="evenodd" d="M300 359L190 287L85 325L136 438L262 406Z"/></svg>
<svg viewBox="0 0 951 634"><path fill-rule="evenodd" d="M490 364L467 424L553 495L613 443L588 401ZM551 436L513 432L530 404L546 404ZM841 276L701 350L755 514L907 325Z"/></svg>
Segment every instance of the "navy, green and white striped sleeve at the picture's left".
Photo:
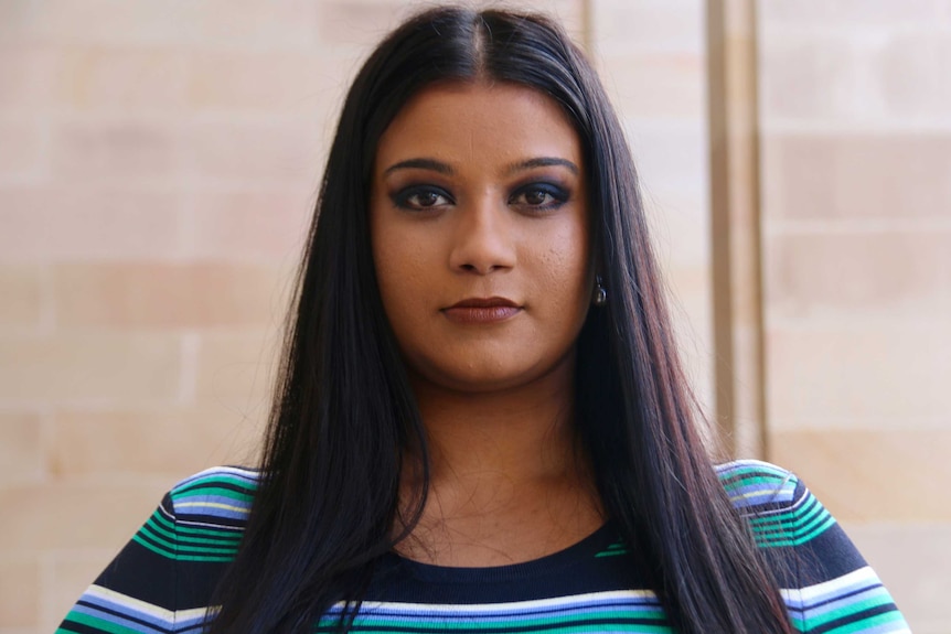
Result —
<svg viewBox="0 0 951 634"><path fill-rule="evenodd" d="M57 634L197 632L237 552L255 471L218 466L178 483L83 593Z"/></svg>

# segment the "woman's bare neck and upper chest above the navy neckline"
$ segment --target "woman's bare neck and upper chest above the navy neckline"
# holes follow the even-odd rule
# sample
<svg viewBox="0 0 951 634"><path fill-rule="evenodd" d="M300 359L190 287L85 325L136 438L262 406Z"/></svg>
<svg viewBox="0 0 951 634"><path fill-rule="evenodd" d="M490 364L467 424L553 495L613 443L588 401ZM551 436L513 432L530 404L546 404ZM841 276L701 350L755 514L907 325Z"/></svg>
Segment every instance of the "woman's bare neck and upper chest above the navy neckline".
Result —
<svg viewBox="0 0 951 634"><path fill-rule="evenodd" d="M574 421L571 369L491 394L415 379L428 437L429 493L412 558L457 566L525 561L567 547L603 522ZM407 455L407 465L418 465ZM404 504L421 491L406 470Z"/></svg>

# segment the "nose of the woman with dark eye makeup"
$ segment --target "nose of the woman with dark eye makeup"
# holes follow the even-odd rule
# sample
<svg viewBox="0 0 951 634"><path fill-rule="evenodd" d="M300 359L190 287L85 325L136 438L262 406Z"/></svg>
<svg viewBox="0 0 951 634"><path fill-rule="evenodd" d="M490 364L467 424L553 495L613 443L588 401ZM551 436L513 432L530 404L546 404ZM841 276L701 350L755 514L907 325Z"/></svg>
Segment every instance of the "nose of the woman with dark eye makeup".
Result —
<svg viewBox="0 0 951 634"><path fill-rule="evenodd" d="M515 266L515 236L504 204L484 195L457 208L449 266L460 272L489 275Z"/></svg>

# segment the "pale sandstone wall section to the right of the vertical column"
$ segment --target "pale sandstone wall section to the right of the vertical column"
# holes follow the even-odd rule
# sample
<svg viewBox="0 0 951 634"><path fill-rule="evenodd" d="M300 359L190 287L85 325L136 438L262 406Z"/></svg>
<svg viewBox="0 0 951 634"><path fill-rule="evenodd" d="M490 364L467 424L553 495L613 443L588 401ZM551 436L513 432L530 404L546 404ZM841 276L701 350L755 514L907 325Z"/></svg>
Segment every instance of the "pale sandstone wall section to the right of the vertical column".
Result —
<svg viewBox="0 0 951 634"><path fill-rule="evenodd" d="M951 2L758 8L770 458L951 632Z"/></svg>

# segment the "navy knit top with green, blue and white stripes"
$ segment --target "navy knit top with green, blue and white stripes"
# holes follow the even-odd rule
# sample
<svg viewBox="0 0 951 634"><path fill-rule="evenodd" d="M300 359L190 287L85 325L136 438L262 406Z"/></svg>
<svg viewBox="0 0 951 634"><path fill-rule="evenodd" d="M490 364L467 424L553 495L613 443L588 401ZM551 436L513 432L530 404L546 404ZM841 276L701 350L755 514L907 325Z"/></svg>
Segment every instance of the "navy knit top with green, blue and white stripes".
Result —
<svg viewBox="0 0 951 634"><path fill-rule="evenodd" d="M793 474L757 461L718 474L774 568L799 632L909 632L878 577ZM180 482L86 590L58 633L197 633L235 556L257 473L216 468ZM395 554L380 562L354 632L672 632L643 571L609 522L554 555L447 568ZM331 632L342 605L316 624Z"/></svg>

